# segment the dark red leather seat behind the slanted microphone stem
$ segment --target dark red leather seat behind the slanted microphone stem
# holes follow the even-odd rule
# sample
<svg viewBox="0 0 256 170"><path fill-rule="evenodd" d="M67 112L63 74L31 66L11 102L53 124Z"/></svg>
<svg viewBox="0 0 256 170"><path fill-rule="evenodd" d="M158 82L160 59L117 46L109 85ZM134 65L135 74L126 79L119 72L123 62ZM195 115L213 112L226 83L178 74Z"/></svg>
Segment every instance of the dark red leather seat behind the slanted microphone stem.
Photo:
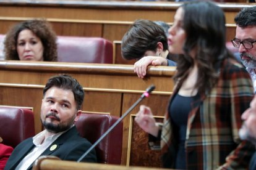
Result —
<svg viewBox="0 0 256 170"><path fill-rule="evenodd" d="M80 136L92 144L96 142L117 121L117 117L97 113L82 113L75 123ZM98 163L121 164L122 122L95 147Z"/></svg>

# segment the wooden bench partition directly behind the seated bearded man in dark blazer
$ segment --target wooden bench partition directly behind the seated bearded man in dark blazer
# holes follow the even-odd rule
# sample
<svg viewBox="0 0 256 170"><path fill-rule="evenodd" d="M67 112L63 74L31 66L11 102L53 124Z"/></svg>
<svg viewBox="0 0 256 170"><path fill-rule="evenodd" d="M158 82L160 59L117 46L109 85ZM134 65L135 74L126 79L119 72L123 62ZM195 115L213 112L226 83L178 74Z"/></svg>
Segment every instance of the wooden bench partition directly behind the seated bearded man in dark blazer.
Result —
<svg viewBox="0 0 256 170"><path fill-rule="evenodd" d="M147 78L140 79L132 65L0 61L0 105L32 108L35 131L38 133L43 129L40 122L43 87L49 77L67 73L83 86L84 112L110 113L118 117L139 99L148 86L155 84L155 91L141 104L150 106L162 121L172 93L175 69L150 67ZM159 167L160 153L155 156L150 154L147 134L133 121L138 110L139 105L123 121L122 164ZM147 153L143 161L137 158L138 153Z"/></svg>

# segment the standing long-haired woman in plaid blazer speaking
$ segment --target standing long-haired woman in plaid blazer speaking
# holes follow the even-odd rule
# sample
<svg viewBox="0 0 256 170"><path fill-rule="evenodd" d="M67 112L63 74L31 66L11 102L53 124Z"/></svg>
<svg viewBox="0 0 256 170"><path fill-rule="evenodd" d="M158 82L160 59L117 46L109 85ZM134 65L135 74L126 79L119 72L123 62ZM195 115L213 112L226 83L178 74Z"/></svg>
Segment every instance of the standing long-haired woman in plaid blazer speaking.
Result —
<svg viewBox="0 0 256 170"><path fill-rule="evenodd" d="M225 46L225 17L212 2L188 2L169 29L169 52L181 54L163 126L142 105L135 121L163 166L176 169L246 169L255 148L239 140L241 114L253 97L247 71ZM154 143L155 142L155 143Z"/></svg>

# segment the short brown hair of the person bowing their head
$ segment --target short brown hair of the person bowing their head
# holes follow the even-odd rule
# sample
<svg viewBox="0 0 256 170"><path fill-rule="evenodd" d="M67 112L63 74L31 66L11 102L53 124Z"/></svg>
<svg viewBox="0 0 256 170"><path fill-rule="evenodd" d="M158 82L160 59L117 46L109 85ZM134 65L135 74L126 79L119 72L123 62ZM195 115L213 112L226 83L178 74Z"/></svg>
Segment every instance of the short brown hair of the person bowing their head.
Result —
<svg viewBox="0 0 256 170"><path fill-rule="evenodd" d="M122 38L122 57L140 59L146 51L156 52L157 42L162 42L164 51L168 49L163 28L150 20L135 20Z"/></svg>

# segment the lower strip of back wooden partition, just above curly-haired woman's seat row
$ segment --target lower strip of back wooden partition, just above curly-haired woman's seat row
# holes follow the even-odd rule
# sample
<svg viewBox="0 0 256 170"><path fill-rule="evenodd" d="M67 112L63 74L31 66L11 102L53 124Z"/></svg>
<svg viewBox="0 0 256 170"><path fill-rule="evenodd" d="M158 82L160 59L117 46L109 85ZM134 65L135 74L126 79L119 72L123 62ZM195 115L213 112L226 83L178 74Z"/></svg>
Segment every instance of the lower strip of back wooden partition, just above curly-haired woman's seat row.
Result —
<svg viewBox="0 0 256 170"><path fill-rule="evenodd" d="M0 34L6 34L9 28L15 23L32 18L35 17L1 17L0 15L0 24L2 25ZM59 36L101 37L108 39L109 41L121 41L124 33L126 33L129 26L134 22L134 20L127 22L109 22L105 20L65 20L56 18L47 18L47 20L53 25L54 31L56 31L56 34ZM158 20L161 20L161 18ZM173 24L173 22L167 23L169 25ZM229 41L234 38L236 25L234 23L227 23L226 28L226 39Z"/></svg>

